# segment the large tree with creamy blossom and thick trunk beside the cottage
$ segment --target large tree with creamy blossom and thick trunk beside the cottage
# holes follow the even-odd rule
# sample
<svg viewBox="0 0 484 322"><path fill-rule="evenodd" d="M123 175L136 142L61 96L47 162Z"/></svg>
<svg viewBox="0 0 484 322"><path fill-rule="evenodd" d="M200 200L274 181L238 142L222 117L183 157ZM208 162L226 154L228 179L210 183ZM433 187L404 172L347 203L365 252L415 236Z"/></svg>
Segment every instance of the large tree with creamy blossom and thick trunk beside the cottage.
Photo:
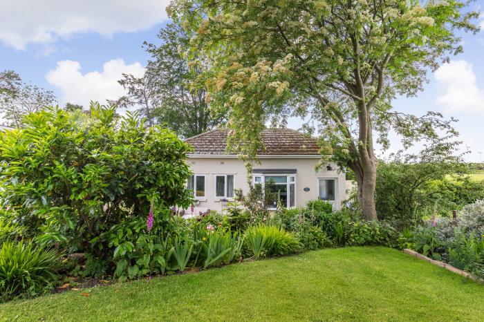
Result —
<svg viewBox="0 0 484 322"><path fill-rule="evenodd" d="M324 153L353 170L362 210L375 219L373 131L384 146L389 129L405 144L453 131L438 113L393 111L391 99L416 95L428 70L460 53L455 30L478 30L469 22L478 13L462 13L466 4L178 0L169 13L194 33L187 55L210 59L206 84L211 104L228 109L232 149L255 155L268 120L310 115Z"/></svg>

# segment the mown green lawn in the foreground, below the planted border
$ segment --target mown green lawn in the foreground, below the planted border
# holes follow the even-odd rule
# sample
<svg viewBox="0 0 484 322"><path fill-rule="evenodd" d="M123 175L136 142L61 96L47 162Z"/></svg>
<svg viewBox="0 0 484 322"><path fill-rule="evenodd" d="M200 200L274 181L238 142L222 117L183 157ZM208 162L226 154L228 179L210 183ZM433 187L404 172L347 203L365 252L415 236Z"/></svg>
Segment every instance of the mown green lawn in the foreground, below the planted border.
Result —
<svg viewBox="0 0 484 322"><path fill-rule="evenodd" d="M484 285L395 249L348 247L13 301L0 320L484 321Z"/></svg>

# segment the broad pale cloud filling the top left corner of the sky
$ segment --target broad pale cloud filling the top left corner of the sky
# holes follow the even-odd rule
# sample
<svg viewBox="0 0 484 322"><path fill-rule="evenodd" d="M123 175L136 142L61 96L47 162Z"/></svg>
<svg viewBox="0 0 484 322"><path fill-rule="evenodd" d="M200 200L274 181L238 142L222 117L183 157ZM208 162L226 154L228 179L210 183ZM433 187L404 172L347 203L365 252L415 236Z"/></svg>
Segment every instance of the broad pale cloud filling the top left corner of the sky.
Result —
<svg viewBox="0 0 484 322"><path fill-rule="evenodd" d="M49 44L76 32L145 30L167 19L168 0L15 0L0 1L0 41L25 49Z"/></svg>

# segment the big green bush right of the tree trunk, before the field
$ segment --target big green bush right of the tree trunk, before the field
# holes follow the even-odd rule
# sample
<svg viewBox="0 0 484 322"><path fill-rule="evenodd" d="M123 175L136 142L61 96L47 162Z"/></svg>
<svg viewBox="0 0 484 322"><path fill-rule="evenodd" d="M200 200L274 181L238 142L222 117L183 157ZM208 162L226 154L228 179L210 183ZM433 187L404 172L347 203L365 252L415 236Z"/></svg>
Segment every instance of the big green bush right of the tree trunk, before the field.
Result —
<svg viewBox="0 0 484 322"><path fill-rule="evenodd" d="M418 154L380 161L375 194L380 218L411 225L422 217L452 216L452 210L484 198L484 182L467 176L467 165L454 156L457 146L438 140Z"/></svg>

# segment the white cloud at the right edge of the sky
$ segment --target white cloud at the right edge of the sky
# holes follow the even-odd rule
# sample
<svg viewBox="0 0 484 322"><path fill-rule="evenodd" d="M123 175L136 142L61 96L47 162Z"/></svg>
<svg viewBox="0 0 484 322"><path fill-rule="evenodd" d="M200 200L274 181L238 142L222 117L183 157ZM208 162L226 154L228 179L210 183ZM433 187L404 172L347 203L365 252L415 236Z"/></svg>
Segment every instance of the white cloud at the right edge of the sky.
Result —
<svg viewBox="0 0 484 322"><path fill-rule="evenodd" d="M484 91L478 87L472 64L465 60L450 61L436 70L440 95L438 104L453 113L484 114Z"/></svg>

